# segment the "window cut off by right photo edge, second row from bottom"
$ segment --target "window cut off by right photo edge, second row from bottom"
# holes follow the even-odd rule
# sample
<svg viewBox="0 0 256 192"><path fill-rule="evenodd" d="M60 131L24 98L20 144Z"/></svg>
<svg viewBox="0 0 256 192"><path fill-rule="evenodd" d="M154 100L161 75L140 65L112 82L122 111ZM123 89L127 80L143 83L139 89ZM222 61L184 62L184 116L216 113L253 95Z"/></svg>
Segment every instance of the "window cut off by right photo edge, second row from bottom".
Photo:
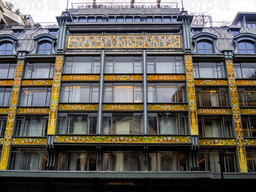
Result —
<svg viewBox="0 0 256 192"><path fill-rule="evenodd" d="M241 116L243 136L256 137L256 116Z"/></svg>

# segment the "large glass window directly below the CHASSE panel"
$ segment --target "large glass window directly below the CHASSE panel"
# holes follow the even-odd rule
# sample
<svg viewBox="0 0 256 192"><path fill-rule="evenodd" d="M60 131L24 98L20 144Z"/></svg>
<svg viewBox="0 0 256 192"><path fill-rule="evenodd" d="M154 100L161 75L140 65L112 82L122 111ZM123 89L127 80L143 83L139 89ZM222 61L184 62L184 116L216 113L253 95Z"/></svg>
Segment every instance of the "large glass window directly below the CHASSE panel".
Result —
<svg viewBox="0 0 256 192"><path fill-rule="evenodd" d="M186 102L184 83L148 83L149 103Z"/></svg>

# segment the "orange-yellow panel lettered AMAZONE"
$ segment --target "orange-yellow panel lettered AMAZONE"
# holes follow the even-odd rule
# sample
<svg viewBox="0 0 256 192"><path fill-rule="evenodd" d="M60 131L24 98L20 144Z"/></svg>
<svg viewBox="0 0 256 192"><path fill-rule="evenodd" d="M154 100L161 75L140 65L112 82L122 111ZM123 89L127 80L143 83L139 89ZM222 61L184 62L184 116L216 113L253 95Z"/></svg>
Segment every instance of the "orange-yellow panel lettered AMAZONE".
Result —
<svg viewBox="0 0 256 192"><path fill-rule="evenodd" d="M103 110L136 111L136 110L143 110L143 105L142 104L104 104Z"/></svg>

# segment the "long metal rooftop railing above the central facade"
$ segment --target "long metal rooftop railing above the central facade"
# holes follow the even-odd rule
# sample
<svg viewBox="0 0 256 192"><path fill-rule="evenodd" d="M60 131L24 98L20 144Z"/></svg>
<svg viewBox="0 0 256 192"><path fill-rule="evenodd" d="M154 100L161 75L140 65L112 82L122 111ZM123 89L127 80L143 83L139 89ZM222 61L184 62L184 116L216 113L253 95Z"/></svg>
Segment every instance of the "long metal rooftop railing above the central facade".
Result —
<svg viewBox="0 0 256 192"><path fill-rule="evenodd" d="M141 8L178 8L177 2L146 3L146 2L91 2L72 3L72 9L141 9Z"/></svg>

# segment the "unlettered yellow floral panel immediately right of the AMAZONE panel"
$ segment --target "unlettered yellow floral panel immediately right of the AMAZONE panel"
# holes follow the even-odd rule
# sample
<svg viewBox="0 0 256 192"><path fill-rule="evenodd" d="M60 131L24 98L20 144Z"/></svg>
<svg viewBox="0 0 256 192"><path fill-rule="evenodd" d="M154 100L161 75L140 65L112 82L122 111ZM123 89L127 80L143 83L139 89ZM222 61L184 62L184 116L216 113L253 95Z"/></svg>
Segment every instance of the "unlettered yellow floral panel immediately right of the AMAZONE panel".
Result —
<svg viewBox="0 0 256 192"><path fill-rule="evenodd" d="M148 110L150 111L162 111L162 110L167 110L167 111L187 111L188 110L188 105L184 104L148 104Z"/></svg>

